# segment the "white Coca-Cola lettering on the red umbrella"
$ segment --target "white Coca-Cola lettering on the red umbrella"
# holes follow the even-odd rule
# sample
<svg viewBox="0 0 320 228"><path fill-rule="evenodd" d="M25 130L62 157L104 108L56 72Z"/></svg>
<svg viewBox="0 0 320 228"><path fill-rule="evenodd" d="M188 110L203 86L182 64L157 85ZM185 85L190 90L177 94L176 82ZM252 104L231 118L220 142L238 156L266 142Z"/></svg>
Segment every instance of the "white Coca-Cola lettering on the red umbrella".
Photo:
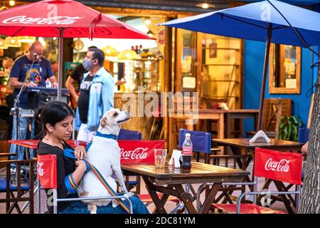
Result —
<svg viewBox="0 0 320 228"><path fill-rule="evenodd" d="M14 16L2 21L4 24L74 24L83 16L53 16L49 18Z"/></svg>

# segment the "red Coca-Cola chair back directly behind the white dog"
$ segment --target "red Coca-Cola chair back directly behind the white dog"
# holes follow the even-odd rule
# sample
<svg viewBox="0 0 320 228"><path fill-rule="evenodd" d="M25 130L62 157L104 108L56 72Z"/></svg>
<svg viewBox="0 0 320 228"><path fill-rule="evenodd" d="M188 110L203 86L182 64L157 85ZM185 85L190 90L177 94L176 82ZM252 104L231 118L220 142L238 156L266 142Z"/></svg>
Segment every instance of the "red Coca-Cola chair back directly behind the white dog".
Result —
<svg viewBox="0 0 320 228"><path fill-rule="evenodd" d="M154 165L154 149L164 149L164 140L118 140L121 164Z"/></svg>

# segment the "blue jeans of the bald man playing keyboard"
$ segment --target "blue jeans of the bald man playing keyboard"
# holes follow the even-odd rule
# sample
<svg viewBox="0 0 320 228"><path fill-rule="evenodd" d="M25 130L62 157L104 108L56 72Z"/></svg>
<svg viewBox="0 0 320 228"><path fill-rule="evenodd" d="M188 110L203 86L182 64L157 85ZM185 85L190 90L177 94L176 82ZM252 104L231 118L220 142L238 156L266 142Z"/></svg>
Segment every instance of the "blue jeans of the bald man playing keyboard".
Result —
<svg viewBox="0 0 320 228"><path fill-rule="evenodd" d="M22 110L23 113L28 112L28 110ZM26 133L28 130L28 126L31 125L31 139L33 139L34 135L34 118L31 117L20 117L18 131L19 131L19 138L18 140L26 140ZM16 115L14 115L14 124L12 127L12 140L16 140ZM18 147L18 150L16 150ZM12 156L14 160L23 160L24 157L24 147L17 146L15 144L11 144L10 152L16 153L16 156ZM30 155L28 157L33 157L33 150L30 150ZM15 166L15 165L14 165Z"/></svg>

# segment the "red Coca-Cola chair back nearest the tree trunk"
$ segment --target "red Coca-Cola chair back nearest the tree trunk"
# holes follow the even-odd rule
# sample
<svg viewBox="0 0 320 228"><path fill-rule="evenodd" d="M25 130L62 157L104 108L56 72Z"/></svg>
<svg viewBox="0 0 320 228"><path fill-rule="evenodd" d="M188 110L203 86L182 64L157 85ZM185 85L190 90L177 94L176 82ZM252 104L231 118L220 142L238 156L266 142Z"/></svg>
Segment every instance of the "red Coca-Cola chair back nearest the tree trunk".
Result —
<svg viewBox="0 0 320 228"><path fill-rule="evenodd" d="M302 185L302 154L255 148L255 176Z"/></svg>

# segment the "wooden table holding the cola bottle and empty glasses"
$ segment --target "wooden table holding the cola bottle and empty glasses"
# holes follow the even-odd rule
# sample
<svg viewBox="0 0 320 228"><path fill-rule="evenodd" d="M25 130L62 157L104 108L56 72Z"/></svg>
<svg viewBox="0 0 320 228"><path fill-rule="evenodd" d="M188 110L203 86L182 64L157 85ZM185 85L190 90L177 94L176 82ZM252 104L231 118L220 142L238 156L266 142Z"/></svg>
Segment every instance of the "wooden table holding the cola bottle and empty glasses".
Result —
<svg viewBox="0 0 320 228"><path fill-rule="evenodd" d="M131 172L134 175L142 175L146 189L156 205L156 212L160 214L166 214L164 204L169 195L181 199L191 214L206 214L223 182L242 182L245 176L250 175L250 172L245 170L235 170L201 162L193 162L191 172L189 173L181 172L180 169L173 169L168 165L166 165L164 170L156 170L154 165L122 165L122 170ZM185 192L183 185L206 182L214 184L210 187L208 197L203 202L203 207L197 212L192 204L191 195ZM164 193L161 199L156 192Z"/></svg>

